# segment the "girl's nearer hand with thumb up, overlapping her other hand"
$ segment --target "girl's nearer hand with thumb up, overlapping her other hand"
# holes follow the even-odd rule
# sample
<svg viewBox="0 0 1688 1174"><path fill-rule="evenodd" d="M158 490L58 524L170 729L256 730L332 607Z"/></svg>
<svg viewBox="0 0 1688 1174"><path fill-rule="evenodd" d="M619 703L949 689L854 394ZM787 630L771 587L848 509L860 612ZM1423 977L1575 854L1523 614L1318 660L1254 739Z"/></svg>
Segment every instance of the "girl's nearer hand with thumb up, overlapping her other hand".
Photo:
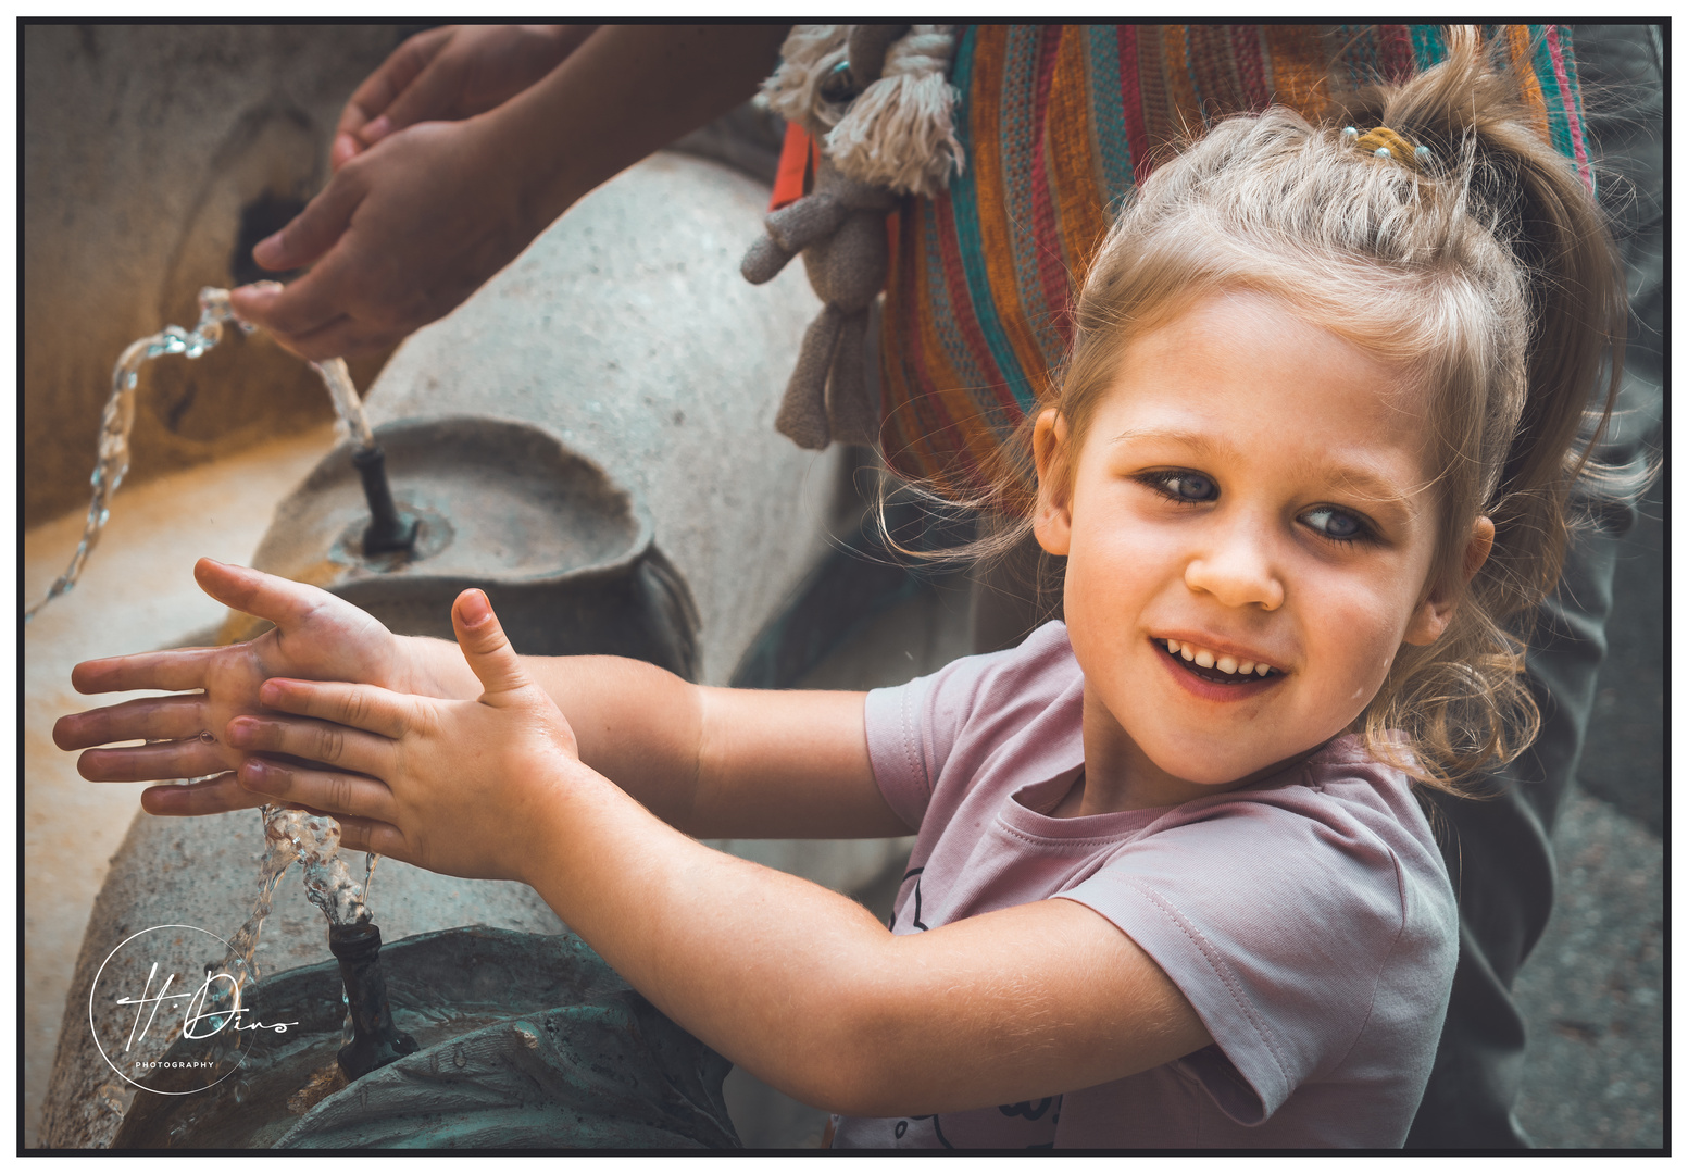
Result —
<svg viewBox="0 0 1688 1174"><path fill-rule="evenodd" d="M486 595L459 595L451 620L481 681L478 699L265 681L263 704L294 716L235 718L228 742L250 755L240 784L255 799L338 816L348 848L457 877L523 880L537 856L527 841L547 809L596 775L581 765L574 731L522 667ZM299 758L322 765L292 762Z"/></svg>

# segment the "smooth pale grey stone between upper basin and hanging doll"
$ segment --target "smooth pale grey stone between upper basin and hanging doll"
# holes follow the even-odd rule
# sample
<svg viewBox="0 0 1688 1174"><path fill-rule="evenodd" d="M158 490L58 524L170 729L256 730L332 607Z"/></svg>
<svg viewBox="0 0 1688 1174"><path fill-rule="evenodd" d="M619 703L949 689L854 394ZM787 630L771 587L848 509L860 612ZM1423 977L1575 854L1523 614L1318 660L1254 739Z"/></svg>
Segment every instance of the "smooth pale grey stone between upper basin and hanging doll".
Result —
<svg viewBox="0 0 1688 1174"><path fill-rule="evenodd" d="M495 416L552 431L650 510L724 682L825 549L841 451L773 431L817 301L797 267L763 287L738 258L768 193L662 152L576 204L375 383L371 424Z"/></svg>

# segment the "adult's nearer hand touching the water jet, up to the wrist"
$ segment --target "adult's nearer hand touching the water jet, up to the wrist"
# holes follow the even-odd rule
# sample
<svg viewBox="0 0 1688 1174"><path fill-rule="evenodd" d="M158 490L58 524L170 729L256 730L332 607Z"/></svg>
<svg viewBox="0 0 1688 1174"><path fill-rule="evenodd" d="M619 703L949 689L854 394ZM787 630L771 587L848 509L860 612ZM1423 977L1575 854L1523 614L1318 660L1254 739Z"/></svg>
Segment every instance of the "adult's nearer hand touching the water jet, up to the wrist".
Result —
<svg viewBox="0 0 1688 1174"><path fill-rule="evenodd" d="M252 250L309 274L243 285L231 306L311 360L397 345L444 318L544 228L523 213L518 160L481 118L424 122L351 159Z"/></svg>

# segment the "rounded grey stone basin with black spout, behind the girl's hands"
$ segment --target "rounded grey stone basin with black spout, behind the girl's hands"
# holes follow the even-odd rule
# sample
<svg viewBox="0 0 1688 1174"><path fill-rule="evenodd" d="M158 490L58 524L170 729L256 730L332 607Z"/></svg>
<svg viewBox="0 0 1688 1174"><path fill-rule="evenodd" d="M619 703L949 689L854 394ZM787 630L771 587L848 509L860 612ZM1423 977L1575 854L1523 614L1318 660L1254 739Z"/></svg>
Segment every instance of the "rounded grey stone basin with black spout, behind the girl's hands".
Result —
<svg viewBox="0 0 1688 1174"><path fill-rule="evenodd" d="M410 551L366 557L370 508L341 443L275 510L253 566L326 588L403 635L452 639L451 601L491 598L530 655L614 654L697 677L697 610L645 508L547 429L483 416L385 424ZM231 617L219 640L260 630Z"/></svg>

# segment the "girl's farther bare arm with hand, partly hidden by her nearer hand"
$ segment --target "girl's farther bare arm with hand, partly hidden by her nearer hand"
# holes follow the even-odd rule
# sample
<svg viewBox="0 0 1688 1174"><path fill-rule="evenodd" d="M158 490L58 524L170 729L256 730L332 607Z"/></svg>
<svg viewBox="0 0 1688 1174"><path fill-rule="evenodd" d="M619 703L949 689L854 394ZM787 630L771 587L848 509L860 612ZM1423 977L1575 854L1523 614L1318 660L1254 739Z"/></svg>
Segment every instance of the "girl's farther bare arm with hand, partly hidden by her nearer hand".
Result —
<svg viewBox="0 0 1688 1174"><path fill-rule="evenodd" d="M213 598L275 628L236 645L81 664L73 674L81 693L172 694L68 715L54 726L61 748L84 750L78 769L95 782L211 775L149 789L142 806L152 814L197 816L263 801L235 782L240 753L216 735L240 715L265 711L258 689L267 677L349 681L427 698L481 693L449 640L395 637L327 591L262 571L201 559L194 574ZM908 831L873 782L861 694L707 689L621 657L523 664L567 715L584 760L690 834ZM143 738L147 745L113 745Z"/></svg>

